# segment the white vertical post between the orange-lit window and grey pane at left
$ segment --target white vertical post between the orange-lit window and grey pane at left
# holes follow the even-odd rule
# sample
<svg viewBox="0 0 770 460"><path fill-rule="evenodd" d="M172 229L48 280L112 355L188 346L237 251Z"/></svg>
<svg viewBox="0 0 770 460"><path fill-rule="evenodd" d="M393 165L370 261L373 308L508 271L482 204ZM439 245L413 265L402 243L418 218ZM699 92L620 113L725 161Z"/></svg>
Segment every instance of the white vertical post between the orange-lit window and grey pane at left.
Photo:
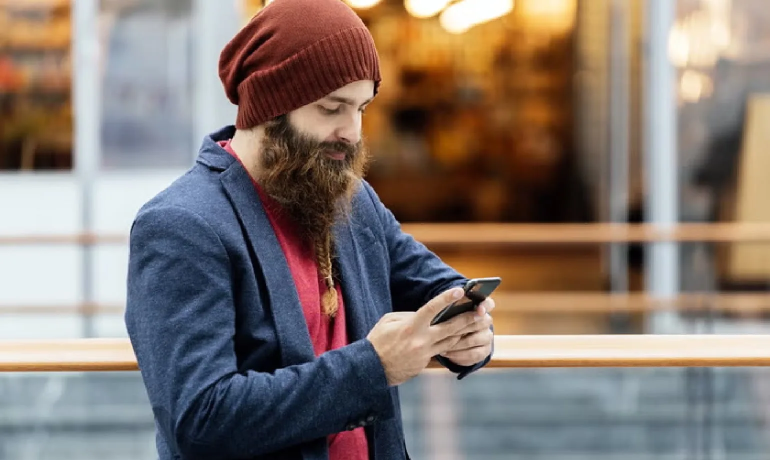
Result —
<svg viewBox="0 0 770 460"><path fill-rule="evenodd" d="M99 79L99 15L98 0L78 0L72 2L72 97L75 111L75 175L81 189L82 231L89 233L93 229L93 183L99 169L99 147L101 138ZM92 304L94 301L94 248L82 247L82 301ZM92 314L83 314L83 336L94 337L95 330Z"/></svg>

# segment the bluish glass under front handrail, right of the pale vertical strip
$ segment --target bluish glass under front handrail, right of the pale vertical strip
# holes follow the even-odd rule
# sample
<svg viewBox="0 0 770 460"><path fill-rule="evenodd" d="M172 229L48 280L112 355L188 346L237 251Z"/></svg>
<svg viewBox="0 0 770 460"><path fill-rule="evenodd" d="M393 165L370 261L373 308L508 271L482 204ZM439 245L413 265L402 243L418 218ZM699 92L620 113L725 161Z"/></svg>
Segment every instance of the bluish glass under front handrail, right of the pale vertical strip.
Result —
<svg viewBox="0 0 770 460"><path fill-rule="evenodd" d="M481 373L450 387L457 458L761 458L767 378L748 368Z"/></svg>

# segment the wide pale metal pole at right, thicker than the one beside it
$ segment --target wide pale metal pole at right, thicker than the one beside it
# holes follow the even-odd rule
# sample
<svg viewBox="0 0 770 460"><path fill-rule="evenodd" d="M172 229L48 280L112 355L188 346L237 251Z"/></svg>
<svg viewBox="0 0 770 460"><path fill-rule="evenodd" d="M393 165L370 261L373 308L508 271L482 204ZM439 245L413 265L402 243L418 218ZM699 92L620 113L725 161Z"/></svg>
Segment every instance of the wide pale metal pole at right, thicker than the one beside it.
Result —
<svg viewBox="0 0 770 460"><path fill-rule="evenodd" d="M676 74L668 59L668 33L675 20L676 2L649 0L647 11L647 69L645 70L645 186L646 220L665 228L678 221L678 153L676 138ZM661 299L679 290L679 257L676 243L648 246L646 286ZM651 314L648 332L675 332L680 322L675 311Z"/></svg>

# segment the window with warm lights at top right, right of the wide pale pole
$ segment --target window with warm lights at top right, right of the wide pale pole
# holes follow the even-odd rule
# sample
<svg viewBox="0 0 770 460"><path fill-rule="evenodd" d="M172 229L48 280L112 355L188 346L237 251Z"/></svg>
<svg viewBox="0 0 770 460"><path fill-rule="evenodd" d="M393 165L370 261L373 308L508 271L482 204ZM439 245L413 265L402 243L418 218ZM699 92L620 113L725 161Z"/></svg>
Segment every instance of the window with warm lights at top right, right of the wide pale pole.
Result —
<svg viewBox="0 0 770 460"><path fill-rule="evenodd" d="M742 149L752 135L748 120L764 112L752 101L770 92L770 11L761 0L677 5L670 52L678 70L682 218L729 220L737 216L727 194L739 193L739 165L753 156Z"/></svg>

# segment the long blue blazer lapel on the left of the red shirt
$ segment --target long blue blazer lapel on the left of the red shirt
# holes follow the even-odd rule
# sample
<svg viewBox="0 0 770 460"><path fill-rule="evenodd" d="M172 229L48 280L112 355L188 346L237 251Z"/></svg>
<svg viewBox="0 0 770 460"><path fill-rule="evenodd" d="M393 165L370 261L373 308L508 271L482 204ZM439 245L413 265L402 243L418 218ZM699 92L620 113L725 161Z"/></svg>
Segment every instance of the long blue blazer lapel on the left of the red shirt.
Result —
<svg viewBox="0 0 770 460"><path fill-rule="evenodd" d="M249 173L240 163L234 162L219 177L265 277L266 302L276 325L283 364L290 366L313 361L313 344L289 264Z"/></svg>

